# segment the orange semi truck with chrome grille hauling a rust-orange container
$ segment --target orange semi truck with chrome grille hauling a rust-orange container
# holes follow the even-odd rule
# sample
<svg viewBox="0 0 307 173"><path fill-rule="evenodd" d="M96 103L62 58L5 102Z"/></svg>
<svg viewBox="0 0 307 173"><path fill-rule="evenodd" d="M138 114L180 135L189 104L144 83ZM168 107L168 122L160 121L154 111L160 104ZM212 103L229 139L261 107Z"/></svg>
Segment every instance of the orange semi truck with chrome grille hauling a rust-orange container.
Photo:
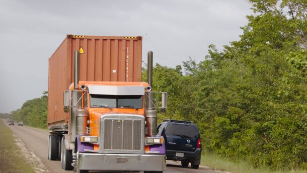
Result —
<svg viewBox="0 0 307 173"><path fill-rule="evenodd" d="M141 81L142 37L67 35L49 58L48 159L65 170L163 172L152 90L152 55Z"/></svg>

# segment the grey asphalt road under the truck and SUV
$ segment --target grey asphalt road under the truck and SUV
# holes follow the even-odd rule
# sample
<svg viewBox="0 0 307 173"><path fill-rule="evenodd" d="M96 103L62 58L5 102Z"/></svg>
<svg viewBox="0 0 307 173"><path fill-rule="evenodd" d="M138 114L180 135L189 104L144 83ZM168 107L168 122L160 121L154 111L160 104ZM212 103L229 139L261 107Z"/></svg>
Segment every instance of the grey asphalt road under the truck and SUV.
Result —
<svg viewBox="0 0 307 173"><path fill-rule="evenodd" d="M51 161L47 158L48 151L48 132L40 129L22 127L22 126L9 126L10 129L22 140L22 142L37 156L41 159L44 166L48 169L50 173L73 173L73 171L63 170L61 168L61 161ZM109 171L90 171L90 172L103 172L107 173ZM123 172L123 171L120 171ZM126 171L124 171L126 172ZM131 172L131 171L130 171ZM208 169L205 166L200 166L198 169L192 169L189 167L181 167L180 162L167 161L167 167L165 172L191 172L191 173L216 173L212 169ZM114 173L114 171L113 171Z"/></svg>

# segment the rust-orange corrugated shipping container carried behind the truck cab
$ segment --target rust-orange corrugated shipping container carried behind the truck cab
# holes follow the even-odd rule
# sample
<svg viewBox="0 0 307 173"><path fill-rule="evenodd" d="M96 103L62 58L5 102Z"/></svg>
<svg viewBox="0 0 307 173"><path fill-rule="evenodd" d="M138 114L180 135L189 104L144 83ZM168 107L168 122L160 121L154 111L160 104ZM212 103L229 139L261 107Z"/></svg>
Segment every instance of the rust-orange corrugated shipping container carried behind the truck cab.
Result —
<svg viewBox="0 0 307 173"><path fill-rule="evenodd" d="M73 82L74 51L81 47L81 81L141 81L142 37L67 35L49 58L49 126L68 122L63 92Z"/></svg>

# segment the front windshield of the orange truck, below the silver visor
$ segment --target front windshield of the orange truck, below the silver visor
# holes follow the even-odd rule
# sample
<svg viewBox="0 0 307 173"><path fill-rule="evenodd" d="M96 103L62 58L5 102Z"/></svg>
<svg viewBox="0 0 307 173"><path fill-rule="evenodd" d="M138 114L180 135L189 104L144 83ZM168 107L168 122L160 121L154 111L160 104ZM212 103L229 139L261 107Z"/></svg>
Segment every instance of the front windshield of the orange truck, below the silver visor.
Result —
<svg viewBox="0 0 307 173"><path fill-rule="evenodd" d="M143 108L143 96L90 95L91 108Z"/></svg>

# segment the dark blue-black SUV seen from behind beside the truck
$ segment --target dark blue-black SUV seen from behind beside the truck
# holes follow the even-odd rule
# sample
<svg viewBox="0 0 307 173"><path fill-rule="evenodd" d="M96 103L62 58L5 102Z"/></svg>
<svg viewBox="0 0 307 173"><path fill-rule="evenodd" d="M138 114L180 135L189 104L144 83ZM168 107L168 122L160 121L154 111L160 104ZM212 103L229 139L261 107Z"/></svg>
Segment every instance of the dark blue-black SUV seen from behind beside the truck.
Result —
<svg viewBox="0 0 307 173"><path fill-rule="evenodd" d="M191 121L164 120L158 125L164 136L167 160L179 160L181 165L197 169L200 164L201 142L198 128Z"/></svg>

